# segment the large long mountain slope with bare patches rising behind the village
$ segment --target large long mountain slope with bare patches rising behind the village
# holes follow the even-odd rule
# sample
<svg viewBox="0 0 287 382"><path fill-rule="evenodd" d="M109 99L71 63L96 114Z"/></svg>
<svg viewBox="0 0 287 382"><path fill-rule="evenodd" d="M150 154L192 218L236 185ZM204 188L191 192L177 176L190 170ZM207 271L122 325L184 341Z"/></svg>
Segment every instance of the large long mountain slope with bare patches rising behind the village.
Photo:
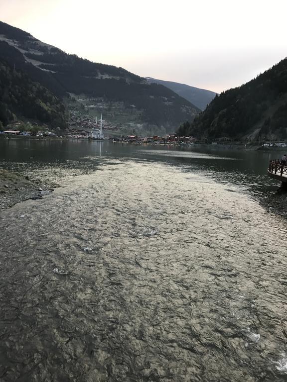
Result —
<svg viewBox="0 0 287 382"><path fill-rule="evenodd" d="M123 68L94 63L0 22L0 58L25 72L70 110L153 132L172 131L199 109L162 85Z"/></svg>

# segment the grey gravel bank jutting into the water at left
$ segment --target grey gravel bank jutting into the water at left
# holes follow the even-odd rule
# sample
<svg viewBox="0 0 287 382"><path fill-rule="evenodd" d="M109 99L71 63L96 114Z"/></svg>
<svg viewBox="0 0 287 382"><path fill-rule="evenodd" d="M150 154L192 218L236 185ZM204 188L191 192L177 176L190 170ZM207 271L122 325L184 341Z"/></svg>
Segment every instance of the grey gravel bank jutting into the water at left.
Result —
<svg viewBox="0 0 287 382"><path fill-rule="evenodd" d="M0 210L28 199L40 199L53 190L39 179L0 169Z"/></svg>

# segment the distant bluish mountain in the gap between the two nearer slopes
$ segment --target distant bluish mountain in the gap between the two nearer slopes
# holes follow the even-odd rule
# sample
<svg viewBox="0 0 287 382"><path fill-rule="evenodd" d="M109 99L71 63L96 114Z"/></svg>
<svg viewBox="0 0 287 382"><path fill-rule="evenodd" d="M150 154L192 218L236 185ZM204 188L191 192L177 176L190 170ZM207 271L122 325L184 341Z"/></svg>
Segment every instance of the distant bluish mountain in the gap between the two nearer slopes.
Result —
<svg viewBox="0 0 287 382"><path fill-rule="evenodd" d="M201 110L204 110L210 101L215 97L216 93L210 90L194 88L193 86L178 84L177 82L155 80L151 77L146 77L150 84L160 84L172 90L174 93L187 99L189 102L196 105Z"/></svg>

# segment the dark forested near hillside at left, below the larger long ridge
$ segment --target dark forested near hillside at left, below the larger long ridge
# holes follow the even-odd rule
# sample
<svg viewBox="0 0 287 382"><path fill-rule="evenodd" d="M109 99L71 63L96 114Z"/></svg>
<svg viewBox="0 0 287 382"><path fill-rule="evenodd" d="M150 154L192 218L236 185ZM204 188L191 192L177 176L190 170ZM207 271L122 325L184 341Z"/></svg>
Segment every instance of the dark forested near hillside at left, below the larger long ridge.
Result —
<svg viewBox="0 0 287 382"><path fill-rule="evenodd" d="M16 117L52 127L66 125L64 104L25 73L0 59L0 125L7 125Z"/></svg>

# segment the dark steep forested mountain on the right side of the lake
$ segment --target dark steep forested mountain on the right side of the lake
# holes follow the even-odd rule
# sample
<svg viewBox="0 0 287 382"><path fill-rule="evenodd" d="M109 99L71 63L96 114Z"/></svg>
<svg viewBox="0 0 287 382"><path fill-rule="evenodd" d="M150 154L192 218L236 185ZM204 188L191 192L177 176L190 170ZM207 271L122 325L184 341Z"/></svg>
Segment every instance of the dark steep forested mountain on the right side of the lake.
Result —
<svg viewBox="0 0 287 382"><path fill-rule="evenodd" d="M216 95L190 125L197 137L287 139L287 58L238 88Z"/></svg>

